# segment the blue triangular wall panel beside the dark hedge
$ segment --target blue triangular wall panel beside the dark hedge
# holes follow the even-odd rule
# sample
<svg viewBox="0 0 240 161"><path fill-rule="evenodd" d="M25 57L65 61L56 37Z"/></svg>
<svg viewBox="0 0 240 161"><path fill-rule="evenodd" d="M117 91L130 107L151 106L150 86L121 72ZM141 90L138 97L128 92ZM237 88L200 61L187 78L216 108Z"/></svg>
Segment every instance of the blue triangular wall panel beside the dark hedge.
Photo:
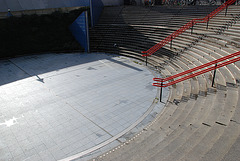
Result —
<svg viewBox="0 0 240 161"><path fill-rule="evenodd" d="M86 12L83 12L69 27L75 39L79 44L84 47L85 52L88 50L88 39L87 39L87 22Z"/></svg>

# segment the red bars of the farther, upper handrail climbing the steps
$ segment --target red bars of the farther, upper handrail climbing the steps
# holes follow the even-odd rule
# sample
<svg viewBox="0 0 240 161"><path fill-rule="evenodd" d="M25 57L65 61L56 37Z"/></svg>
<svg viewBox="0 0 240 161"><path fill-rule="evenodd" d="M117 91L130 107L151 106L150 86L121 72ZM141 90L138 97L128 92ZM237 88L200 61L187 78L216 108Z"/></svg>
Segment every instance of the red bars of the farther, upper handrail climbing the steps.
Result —
<svg viewBox="0 0 240 161"><path fill-rule="evenodd" d="M147 56L152 55L153 53L155 53L156 51L161 49L164 45L169 43L171 40L175 39L178 35L182 34L183 32L185 32L187 29L191 28L195 24L208 22L210 19L215 17L218 13L220 13L226 7L228 7L229 5L233 4L235 1L236 0L229 0L229 1L225 2L224 4L222 4L220 7L218 7L217 9L215 9L213 12L208 14L206 17L193 19L193 20L189 21L187 24L185 24L184 26L179 28L177 31L175 31L171 35L167 36L165 39L163 39L161 42L157 43L156 45L154 45L153 47L151 47L147 51L142 51L142 53L143 53L142 56L146 56L147 57Z"/></svg>

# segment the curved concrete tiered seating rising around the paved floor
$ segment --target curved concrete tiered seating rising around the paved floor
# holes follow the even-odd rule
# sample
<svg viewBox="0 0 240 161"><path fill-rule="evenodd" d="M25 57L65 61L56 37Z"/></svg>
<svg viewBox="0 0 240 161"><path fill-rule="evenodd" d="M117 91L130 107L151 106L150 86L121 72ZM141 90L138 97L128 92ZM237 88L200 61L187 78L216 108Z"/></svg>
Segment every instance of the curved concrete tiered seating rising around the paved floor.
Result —
<svg viewBox="0 0 240 161"><path fill-rule="evenodd" d="M108 25L100 21L92 29L91 32L96 33L92 35L92 42L96 44L91 47L93 51L145 60L141 57L142 50L181 27L186 23L184 19L204 17L215 8L119 7L115 10L119 13L118 20L107 18L109 21L104 23ZM150 56L150 64L160 66L161 74L167 77L240 51L236 44L229 43L232 36L240 36L235 32L240 29L239 22L226 32L216 33L231 16L238 15L239 10L240 6L230 6L228 15L225 17L222 12L213 18L208 30L206 24L194 26L193 34L187 31L180 35L174 40L172 49L168 44ZM111 14L104 11L102 19L105 15ZM213 73L209 72L169 87L171 94L164 111L136 137L96 160L239 159L236 147L240 140L240 63L218 69L214 87L211 86L212 77Z"/></svg>

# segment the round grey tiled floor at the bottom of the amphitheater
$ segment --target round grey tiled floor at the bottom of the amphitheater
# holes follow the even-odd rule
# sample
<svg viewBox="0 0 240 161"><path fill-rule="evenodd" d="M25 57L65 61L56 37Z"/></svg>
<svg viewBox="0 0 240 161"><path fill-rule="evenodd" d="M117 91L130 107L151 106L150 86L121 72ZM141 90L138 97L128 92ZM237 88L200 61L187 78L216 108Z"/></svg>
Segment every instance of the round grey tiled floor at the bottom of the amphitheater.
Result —
<svg viewBox="0 0 240 161"><path fill-rule="evenodd" d="M64 159L116 136L152 105L152 78L106 54L0 60L0 160Z"/></svg>

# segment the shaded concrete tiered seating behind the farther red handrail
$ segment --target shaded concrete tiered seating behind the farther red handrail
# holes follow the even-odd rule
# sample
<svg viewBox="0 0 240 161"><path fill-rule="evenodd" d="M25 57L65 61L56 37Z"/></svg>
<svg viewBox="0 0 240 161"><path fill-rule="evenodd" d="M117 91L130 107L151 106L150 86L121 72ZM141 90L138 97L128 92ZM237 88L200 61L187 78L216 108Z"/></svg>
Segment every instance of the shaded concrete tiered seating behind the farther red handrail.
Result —
<svg viewBox="0 0 240 161"><path fill-rule="evenodd" d="M204 7L196 7L193 10L198 11L193 12L197 13L196 17L202 17L209 13ZM143 60L141 51L152 47L174 32L179 27L176 24L184 25L187 22L186 15L190 15L189 9L186 10L185 14L185 10L181 7L175 7L171 10L163 6L156 8L106 7L102 14L104 18L90 31L91 51L131 55ZM177 18L175 18L176 16ZM189 16L188 19L191 19L191 17ZM155 23L153 24L152 22ZM175 26L167 27L170 24ZM158 53L171 56L176 49L181 50L186 47L186 42L191 43L199 37L196 34L189 37L189 34L190 32L187 31L179 38L176 38L174 47L170 51L169 45L167 45ZM118 47L114 47L114 44L117 44ZM150 63L151 60L150 58ZM154 60L152 61L154 62ZM156 63L154 65L158 66Z"/></svg>

